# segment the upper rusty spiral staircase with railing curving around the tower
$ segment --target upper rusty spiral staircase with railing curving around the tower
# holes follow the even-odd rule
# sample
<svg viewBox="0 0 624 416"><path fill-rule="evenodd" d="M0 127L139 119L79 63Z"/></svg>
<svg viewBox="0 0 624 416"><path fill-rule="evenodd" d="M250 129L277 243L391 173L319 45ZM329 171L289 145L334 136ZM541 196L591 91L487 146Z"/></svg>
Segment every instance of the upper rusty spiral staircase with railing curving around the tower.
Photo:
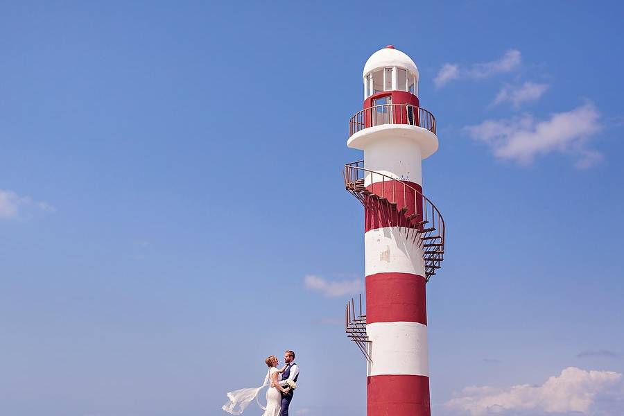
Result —
<svg viewBox="0 0 624 416"><path fill-rule="evenodd" d="M363 160L345 164L343 176L347 191L365 207L380 209L422 249L429 281L444 259L444 218L433 202L406 181L364 168Z"/></svg>

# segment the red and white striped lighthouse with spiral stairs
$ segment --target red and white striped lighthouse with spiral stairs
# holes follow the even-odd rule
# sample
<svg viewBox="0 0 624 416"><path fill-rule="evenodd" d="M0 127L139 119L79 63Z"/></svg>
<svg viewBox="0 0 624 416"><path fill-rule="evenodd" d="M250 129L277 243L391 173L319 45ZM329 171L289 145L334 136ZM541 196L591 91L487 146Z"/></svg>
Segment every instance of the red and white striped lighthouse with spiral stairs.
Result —
<svg viewBox="0 0 624 416"><path fill-rule="evenodd" d="M418 68L388 45L363 71L363 110L347 146L347 191L364 206L365 301L350 300L347 336L367 361L367 416L429 416L426 284L444 259L444 219L423 193L422 160L438 147L420 106Z"/></svg>

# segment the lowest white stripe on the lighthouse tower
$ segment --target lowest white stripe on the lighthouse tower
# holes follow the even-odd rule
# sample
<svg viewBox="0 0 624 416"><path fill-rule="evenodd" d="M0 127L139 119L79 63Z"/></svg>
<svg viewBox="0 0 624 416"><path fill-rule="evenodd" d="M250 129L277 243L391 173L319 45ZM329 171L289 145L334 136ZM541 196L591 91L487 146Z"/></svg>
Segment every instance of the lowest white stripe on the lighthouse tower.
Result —
<svg viewBox="0 0 624 416"><path fill-rule="evenodd" d="M375 322L366 325L367 375L429 376L427 327L417 322Z"/></svg>

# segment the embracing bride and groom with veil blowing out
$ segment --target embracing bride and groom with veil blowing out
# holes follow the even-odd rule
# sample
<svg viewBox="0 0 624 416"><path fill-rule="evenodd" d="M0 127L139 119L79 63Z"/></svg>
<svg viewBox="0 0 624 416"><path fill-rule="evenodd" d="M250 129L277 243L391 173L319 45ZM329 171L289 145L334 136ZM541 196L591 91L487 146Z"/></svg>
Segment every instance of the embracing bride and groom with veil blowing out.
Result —
<svg viewBox="0 0 624 416"><path fill-rule="evenodd" d="M264 410L262 416L288 416L288 408L293 400L293 392L297 388L299 366L295 364L295 352L287 349L284 352L284 367L278 368L279 359L269 356L264 361L269 370L264 383L259 388L243 388L227 393L229 401L223 405L223 410L231 415L241 415L243 410L254 399L258 401L260 390L268 386L266 391L266 408L258 401Z"/></svg>

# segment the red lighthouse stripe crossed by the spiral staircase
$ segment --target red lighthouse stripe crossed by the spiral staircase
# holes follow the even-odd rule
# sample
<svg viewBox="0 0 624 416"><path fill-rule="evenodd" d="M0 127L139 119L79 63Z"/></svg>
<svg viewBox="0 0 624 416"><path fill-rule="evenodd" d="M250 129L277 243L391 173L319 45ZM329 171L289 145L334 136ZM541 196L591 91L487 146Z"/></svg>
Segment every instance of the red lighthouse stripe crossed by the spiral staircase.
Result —
<svg viewBox="0 0 624 416"><path fill-rule="evenodd" d="M404 187L404 184L415 188L418 192ZM367 186L366 189L379 198L385 198L387 201L371 196L365 197L365 231L382 227L406 227L408 225L406 221L408 216L415 212L422 216L422 187L415 182L386 180L374 182ZM397 202L397 208L392 209L389 202ZM399 211L404 207L407 208L407 211L400 215ZM422 218L414 218L411 223L416 223L419 220L422 220Z"/></svg>

